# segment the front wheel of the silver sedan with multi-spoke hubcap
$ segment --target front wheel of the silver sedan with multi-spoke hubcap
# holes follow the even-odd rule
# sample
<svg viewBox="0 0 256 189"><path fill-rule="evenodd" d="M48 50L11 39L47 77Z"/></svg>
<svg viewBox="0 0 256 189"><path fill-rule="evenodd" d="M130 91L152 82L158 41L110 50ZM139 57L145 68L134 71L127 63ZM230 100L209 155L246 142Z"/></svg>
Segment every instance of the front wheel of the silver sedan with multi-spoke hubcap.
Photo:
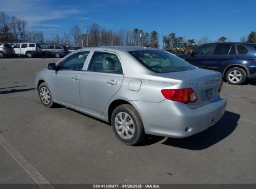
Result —
<svg viewBox="0 0 256 189"><path fill-rule="evenodd" d="M45 89L47 89L47 91ZM46 83L41 83L39 85L38 94L40 101L42 104L44 104L45 107L52 108L54 106L54 102L52 101L52 94L50 93L49 86Z"/></svg>

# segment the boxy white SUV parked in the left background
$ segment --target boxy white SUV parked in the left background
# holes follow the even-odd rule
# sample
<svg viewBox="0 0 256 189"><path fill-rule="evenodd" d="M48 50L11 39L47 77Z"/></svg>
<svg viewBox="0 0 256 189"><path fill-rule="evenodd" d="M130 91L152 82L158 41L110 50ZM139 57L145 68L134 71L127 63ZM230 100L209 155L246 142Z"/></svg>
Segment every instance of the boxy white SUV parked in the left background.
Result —
<svg viewBox="0 0 256 189"><path fill-rule="evenodd" d="M22 42L20 44L15 44L12 47L14 48L15 54L17 56L25 55L27 58L32 58L41 55L40 44L35 44L33 42Z"/></svg>

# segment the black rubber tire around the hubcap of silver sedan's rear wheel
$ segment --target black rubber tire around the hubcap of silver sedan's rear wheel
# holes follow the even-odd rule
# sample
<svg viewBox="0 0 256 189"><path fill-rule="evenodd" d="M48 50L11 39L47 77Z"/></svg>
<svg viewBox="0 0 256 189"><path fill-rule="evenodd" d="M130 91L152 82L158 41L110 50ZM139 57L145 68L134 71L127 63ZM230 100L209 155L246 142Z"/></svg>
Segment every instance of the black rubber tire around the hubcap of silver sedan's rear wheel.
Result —
<svg viewBox="0 0 256 189"><path fill-rule="evenodd" d="M118 130L117 127L121 126L121 125L117 124L115 122L116 116L123 114L123 113L128 114L128 118L126 118L126 122L127 122L127 120L133 121L133 124L127 126L127 127L130 127L130 129L134 129L133 136L130 139L124 139L123 137L121 137L121 135L119 133L121 133L121 131L123 131L124 128L122 130L121 129ZM127 145L135 145L135 144L138 144L141 141L143 141L143 139L145 139L146 134L144 131L144 126L143 126L143 122L141 120L140 114L130 104L122 104L115 108L115 110L113 111L113 113L111 115L111 126L112 126L113 131L115 132L116 137L118 137L118 139L120 139L120 141L124 142ZM126 129L125 132L130 132L130 131L128 131ZM132 133L130 132L130 134L132 134ZM126 134L126 136L128 136L128 135L129 134ZM126 137L126 136L124 136L124 137ZM130 135L129 135L129 137L130 137Z"/></svg>

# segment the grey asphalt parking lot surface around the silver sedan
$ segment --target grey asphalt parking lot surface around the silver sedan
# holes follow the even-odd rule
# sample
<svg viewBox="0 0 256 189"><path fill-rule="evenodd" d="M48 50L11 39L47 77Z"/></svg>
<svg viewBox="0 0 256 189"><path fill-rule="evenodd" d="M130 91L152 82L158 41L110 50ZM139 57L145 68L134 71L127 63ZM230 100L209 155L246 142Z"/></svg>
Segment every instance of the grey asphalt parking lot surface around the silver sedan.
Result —
<svg viewBox="0 0 256 189"><path fill-rule="evenodd" d="M255 80L224 83L227 110L207 131L131 147L106 122L42 106L35 73L57 60L0 60L0 183L256 183Z"/></svg>

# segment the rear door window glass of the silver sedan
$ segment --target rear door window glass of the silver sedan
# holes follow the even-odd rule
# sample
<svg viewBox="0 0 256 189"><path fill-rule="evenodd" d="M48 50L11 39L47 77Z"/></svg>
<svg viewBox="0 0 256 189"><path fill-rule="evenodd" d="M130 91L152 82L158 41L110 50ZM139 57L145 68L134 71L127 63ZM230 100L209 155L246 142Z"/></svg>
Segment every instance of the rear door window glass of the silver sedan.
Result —
<svg viewBox="0 0 256 189"><path fill-rule="evenodd" d="M123 73L119 58L107 52L94 52L88 71Z"/></svg>

